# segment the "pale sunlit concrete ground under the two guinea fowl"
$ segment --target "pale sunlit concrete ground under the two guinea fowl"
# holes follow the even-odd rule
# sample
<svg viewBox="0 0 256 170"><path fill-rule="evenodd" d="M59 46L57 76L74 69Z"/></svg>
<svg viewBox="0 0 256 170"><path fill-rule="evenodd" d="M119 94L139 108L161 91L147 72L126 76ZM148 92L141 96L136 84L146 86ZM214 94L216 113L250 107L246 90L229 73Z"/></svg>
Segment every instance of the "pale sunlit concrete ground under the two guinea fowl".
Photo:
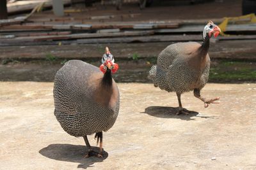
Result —
<svg viewBox="0 0 256 170"><path fill-rule="evenodd" d="M204 108L189 92L175 115L175 93L118 83L120 113L104 132L104 158L84 159L83 138L54 117L52 83L0 82L0 169L256 169L256 84L209 83ZM93 136L89 136L95 146Z"/></svg>

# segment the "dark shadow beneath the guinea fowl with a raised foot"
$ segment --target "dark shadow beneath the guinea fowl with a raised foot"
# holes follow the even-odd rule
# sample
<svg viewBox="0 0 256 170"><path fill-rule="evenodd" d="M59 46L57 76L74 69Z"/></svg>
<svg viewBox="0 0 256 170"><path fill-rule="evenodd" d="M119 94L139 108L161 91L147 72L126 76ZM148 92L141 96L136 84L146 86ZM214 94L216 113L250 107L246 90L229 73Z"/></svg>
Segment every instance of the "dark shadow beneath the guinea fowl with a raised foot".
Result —
<svg viewBox="0 0 256 170"><path fill-rule="evenodd" d="M198 112L196 111L189 111L189 115L180 114L176 115L178 111L178 108L172 108L172 107L164 107L164 106L149 106L145 108L144 112L141 113L147 113L148 115L152 117L159 117L159 118L179 118L181 120L195 120L195 118L198 115ZM207 117L204 117L207 118Z"/></svg>

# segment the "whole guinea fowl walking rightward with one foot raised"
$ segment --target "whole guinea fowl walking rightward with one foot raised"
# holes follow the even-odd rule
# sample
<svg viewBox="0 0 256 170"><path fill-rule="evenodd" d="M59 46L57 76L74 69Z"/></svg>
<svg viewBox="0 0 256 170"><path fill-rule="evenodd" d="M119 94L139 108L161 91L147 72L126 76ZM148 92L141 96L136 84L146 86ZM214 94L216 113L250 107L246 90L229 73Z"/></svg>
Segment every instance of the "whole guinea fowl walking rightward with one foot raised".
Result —
<svg viewBox="0 0 256 170"><path fill-rule="evenodd" d="M204 102L205 108L216 102L219 97L205 99L200 95L200 90L205 86L209 77L210 57L208 54L210 38L217 37L220 28L212 21L204 27L203 43L186 42L174 43L167 46L159 53L157 64L152 66L148 78L155 87L168 92L176 92L179 101L179 111L176 115L189 111L182 108L180 95L194 90L194 96Z"/></svg>

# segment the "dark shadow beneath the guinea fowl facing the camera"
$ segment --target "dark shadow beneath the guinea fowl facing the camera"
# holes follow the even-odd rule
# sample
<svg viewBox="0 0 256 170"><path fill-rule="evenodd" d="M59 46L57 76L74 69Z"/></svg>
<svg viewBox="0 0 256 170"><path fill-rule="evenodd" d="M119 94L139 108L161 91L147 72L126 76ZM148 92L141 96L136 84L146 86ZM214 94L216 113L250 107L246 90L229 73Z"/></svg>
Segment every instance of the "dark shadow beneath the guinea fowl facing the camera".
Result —
<svg viewBox="0 0 256 170"><path fill-rule="evenodd" d="M99 151L98 147L92 147L94 151ZM51 144L42 148L39 153L47 158L61 160L66 162L80 163L77 168L86 169L92 166L95 162L103 162L108 157L108 152L103 150L102 158L89 157L84 158L88 152L86 146L83 145L70 145L70 144Z"/></svg>

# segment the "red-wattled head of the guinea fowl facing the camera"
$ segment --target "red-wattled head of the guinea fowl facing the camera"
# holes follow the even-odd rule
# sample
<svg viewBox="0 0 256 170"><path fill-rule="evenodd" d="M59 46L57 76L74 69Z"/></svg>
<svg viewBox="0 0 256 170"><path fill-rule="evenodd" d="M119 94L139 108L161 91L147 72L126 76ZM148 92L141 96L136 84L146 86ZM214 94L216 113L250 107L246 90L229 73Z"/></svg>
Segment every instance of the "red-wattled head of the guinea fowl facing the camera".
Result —
<svg viewBox="0 0 256 170"><path fill-rule="evenodd" d="M109 52L108 46L106 47L106 52L102 56L102 64L100 65L100 71L102 73L111 72L116 73L118 70L118 64L115 63L113 55Z"/></svg>

